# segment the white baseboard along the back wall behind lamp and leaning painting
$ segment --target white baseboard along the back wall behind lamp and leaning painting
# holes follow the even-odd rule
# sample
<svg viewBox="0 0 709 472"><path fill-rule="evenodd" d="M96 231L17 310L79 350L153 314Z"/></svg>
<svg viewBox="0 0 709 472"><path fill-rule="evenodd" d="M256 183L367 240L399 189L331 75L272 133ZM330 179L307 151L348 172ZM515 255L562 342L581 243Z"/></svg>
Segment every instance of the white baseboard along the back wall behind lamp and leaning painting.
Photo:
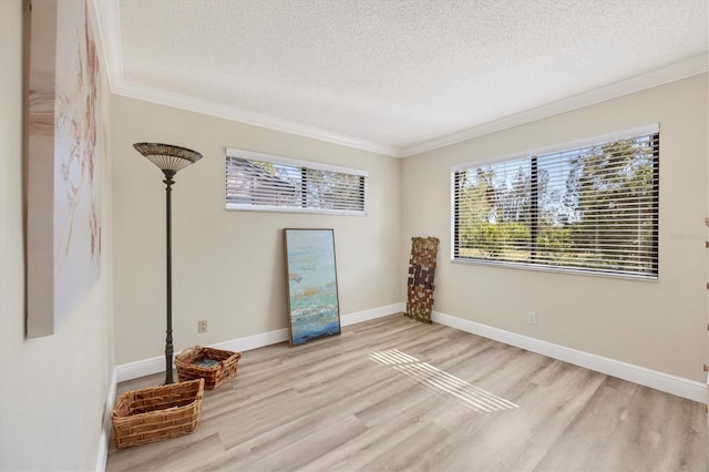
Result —
<svg viewBox="0 0 709 472"><path fill-rule="evenodd" d="M340 325L349 326L370 319L393 315L403 311L403 307L404 304L392 304L383 307L372 308L369 310L342 315L340 317ZM233 339L230 341L217 342L210 345L210 347L216 349L243 352L287 341L288 337L288 329L277 329L275 331L263 332L260 335L247 336L245 338ZM164 372L165 357L160 356L150 359L137 360L135 362L122 363L120 366L116 366L115 371L117 382L137 379L145 376L152 376L153 373L157 372Z"/></svg>

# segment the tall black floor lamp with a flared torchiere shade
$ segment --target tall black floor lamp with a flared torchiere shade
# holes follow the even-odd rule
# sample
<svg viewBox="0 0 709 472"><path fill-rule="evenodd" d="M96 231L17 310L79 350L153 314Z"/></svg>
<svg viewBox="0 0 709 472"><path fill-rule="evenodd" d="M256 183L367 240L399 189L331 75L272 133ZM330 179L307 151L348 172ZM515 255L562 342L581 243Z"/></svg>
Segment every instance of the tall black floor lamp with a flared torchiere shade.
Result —
<svg viewBox="0 0 709 472"><path fill-rule="evenodd" d="M173 146L171 144L157 143L135 143L135 150L143 154L150 162L155 164L165 174L165 217L166 217L166 286L167 286L167 329L165 330L165 384L174 383L173 380L173 263L172 263L172 216L169 195L173 177L181 168L202 158L202 154L186 147Z"/></svg>

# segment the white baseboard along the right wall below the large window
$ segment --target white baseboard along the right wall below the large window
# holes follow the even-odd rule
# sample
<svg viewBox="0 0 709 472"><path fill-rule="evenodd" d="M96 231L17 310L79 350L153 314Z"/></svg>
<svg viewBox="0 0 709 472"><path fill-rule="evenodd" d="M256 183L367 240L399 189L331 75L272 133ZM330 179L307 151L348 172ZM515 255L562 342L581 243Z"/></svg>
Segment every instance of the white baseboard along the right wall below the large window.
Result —
<svg viewBox="0 0 709 472"><path fill-rule="evenodd" d="M595 370L596 372L606 373L612 377L617 377L618 379L650 387L677 397L687 398L700 403L707 402L707 386L702 382L696 382L693 380L658 372L656 370L646 369L644 367L609 359L603 356L566 348L564 346L554 345L552 342L542 341L540 339L530 338L527 336L517 335L515 332L505 331L504 329L493 328L491 326L481 325L475 321L456 318L436 311L433 311L431 318L434 322L460 329L461 331L494 339L495 341L504 342L505 345L515 346L517 348L541 353L575 366L585 367L586 369Z"/></svg>

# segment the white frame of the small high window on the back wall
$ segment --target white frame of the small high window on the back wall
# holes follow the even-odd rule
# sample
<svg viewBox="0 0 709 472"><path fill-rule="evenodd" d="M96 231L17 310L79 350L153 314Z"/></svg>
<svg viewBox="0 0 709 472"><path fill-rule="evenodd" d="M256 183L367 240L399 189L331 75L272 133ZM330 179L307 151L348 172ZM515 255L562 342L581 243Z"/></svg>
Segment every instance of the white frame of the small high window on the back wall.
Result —
<svg viewBox="0 0 709 472"><path fill-rule="evenodd" d="M268 162L273 164L279 165L288 165L294 167L299 167L302 172L302 175L306 175L306 171L321 171L321 172L331 172L339 174L347 174L360 177L360 188L362 193L362 209L330 209L330 208L318 208L314 206L306 206L305 201L301 206L287 206L287 205L254 205L254 204L243 204L243 203L233 203L229 202L228 198L228 167L229 167L229 157L232 158L240 158L246 161L260 161ZM367 202L368 202L368 185L369 185L369 172L359 170L345 167L340 165L326 164L320 162L305 161L294 157L285 157L274 154L265 154L258 153L254 151L245 151L235 147L226 147L225 153L225 167L224 167L224 179L225 179L225 209L234 211L234 212L264 212L264 213L307 213L307 214L320 214L320 215L341 215L341 216L367 216ZM306 182L302 182L301 185L307 185Z"/></svg>

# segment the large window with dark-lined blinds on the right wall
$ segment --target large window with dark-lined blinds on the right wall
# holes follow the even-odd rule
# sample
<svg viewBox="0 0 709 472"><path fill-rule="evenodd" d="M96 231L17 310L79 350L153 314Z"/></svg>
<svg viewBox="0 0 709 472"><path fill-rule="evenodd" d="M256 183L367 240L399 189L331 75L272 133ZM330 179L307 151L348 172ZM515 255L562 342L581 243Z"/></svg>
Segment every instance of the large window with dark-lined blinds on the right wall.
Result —
<svg viewBox="0 0 709 472"><path fill-rule="evenodd" d="M453 258L658 277L659 126L452 170Z"/></svg>

